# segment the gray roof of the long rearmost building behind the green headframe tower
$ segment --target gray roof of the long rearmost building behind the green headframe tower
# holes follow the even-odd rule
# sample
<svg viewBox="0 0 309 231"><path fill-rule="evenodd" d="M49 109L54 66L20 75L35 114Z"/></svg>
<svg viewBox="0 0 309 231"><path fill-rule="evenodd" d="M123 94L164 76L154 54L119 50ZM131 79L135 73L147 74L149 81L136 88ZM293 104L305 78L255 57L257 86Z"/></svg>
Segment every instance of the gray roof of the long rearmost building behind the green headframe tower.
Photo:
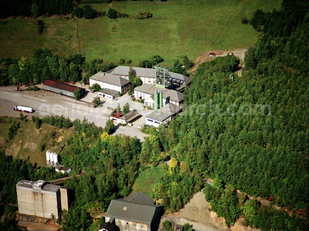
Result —
<svg viewBox="0 0 309 231"><path fill-rule="evenodd" d="M132 67L133 70L136 73L136 76L138 77L148 77L148 78L155 78L155 69L152 68L142 68L142 67ZM125 75L129 76L129 66L117 66L109 71L107 73L110 73L112 75ZM168 80L172 83L178 83L181 85L186 85L191 83L191 78L187 77L185 75L181 75L174 72L168 72L170 74L170 77Z"/></svg>

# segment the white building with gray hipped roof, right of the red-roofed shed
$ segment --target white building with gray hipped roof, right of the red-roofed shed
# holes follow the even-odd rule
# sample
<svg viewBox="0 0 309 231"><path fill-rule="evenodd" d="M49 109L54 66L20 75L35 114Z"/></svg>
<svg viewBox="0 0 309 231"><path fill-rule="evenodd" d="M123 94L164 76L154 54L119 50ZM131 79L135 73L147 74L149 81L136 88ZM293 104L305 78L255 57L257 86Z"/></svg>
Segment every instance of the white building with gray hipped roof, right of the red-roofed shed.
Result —
<svg viewBox="0 0 309 231"><path fill-rule="evenodd" d="M129 87L131 86L131 82L129 80L102 71L89 78L90 87L95 83L98 83L103 89L107 88L115 90L121 94L127 93Z"/></svg>

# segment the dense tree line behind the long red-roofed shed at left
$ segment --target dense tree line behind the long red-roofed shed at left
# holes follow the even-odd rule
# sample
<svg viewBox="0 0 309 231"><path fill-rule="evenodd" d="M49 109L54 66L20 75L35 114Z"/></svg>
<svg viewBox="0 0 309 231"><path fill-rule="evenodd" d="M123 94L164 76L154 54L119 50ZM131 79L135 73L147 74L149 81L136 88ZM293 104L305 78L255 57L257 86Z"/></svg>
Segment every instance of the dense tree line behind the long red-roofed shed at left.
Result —
<svg viewBox="0 0 309 231"><path fill-rule="evenodd" d="M81 80L82 73L89 79L98 71L108 71L116 65L103 63L100 59L85 62L81 54L71 54L68 58L52 53L49 49L38 49L32 58L3 58L0 61L0 85L18 83L41 83L46 79L73 81Z"/></svg>

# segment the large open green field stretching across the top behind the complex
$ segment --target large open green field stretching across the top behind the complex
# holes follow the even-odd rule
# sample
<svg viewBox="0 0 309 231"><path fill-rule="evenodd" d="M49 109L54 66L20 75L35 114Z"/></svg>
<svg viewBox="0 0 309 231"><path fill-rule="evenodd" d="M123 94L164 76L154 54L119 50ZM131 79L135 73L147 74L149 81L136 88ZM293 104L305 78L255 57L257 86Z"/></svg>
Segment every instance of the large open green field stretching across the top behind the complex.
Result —
<svg viewBox="0 0 309 231"><path fill-rule="evenodd" d="M116 62L119 58L139 60L159 54L165 64L171 65L187 54L195 60L209 50L226 50L248 47L259 36L249 24L260 8L264 11L279 9L279 0L168 0L113 2L113 7L129 14L129 18L69 19L41 18L42 35L34 24L37 19L10 19L0 21L0 58L32 56L33 49L49 48L69 56L79 50L87 59L101 58ZM92 4L106 11L110 4ZM150 19L137 19L138 12L150 11ZM78 27L78 33L77 33ZM71 37L70 37L71 36ZM79 38L79 45L78 45Z"/></svg>

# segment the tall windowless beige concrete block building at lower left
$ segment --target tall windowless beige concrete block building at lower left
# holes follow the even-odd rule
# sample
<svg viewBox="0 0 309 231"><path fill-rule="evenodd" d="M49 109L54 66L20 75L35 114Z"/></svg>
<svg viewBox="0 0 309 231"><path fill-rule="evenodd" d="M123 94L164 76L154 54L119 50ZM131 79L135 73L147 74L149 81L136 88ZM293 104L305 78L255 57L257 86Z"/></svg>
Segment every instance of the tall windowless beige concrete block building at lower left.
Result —
<svg viewBox="0 0 309 231"><path fill-rule="evenodd" d="M16 192L19 220L43 223L58 219L61 210L69 209L67 187L52 185L43 180L20 180Z"/></svg>

